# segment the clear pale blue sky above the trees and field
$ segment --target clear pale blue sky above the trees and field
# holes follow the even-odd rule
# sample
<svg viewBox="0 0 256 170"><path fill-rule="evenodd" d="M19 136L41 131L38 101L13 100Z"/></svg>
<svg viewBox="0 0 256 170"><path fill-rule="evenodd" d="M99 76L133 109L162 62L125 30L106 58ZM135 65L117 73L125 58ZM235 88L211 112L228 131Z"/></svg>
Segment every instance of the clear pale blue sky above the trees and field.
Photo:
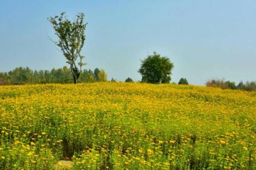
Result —
<svg viewBox="0 0 256 170"><path fill-rule="evenodd" d="M108 79L140 80L153 51L174 63L172 82L256 80L256 0L0 0L0 72L61 68L64 56L47 17L77 12L88 22L84 68Z"/></svg>

